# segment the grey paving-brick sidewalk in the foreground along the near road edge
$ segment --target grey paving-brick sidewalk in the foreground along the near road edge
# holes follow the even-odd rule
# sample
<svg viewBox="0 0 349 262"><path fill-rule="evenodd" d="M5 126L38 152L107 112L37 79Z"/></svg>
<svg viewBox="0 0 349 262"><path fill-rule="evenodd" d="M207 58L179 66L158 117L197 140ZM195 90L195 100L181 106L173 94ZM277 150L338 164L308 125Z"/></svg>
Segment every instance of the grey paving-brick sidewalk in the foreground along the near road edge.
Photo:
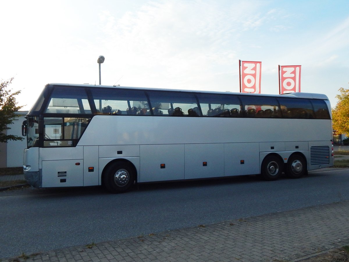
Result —
<svg viewBox="0 0 349 262"><path fill-rule="evenodd" d="M2 262L298 261L348 244L349 201L344 201L90 243Z"/></svg>

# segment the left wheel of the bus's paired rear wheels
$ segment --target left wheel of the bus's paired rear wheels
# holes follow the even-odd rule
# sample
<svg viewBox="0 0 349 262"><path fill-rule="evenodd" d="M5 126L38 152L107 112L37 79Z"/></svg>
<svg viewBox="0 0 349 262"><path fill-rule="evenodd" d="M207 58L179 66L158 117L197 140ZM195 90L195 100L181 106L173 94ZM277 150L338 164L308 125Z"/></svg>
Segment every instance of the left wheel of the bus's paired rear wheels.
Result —
<svg viewBox="0 0 349 262"><path fill-rule="evenodd" d="M263 179L273 181L279 179L282 173L283 163L276 155L268 155L264 158L261 166Z"/></svg>

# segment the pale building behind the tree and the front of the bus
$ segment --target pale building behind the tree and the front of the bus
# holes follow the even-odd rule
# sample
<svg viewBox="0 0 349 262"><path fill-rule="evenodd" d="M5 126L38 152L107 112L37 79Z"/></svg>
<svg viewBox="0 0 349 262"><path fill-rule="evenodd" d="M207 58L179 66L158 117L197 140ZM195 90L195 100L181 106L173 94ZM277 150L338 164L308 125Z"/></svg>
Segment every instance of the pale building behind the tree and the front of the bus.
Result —
<svg viewBox="0 0 349 262"><path fill-rule="evenodd" d="M25 120L24 116L28 111L16 112L19 117L13 120L13 124L8 127L9 130L5 130L6 134L13 134L15 136L22 136L22 123ZM23 137L24 138L24 137ZM27 141L12 141L7 143L0 143L0 167L21 167L23 166L23 150L27 148Z"/></svg>

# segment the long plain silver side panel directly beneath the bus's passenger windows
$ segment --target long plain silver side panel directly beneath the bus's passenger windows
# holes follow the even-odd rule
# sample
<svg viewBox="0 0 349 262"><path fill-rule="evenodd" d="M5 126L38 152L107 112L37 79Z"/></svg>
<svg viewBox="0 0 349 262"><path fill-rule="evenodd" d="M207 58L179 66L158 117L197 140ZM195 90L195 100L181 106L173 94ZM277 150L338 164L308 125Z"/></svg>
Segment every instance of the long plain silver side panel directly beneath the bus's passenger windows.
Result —
<svg viewBox="0 0 349 262"><path fill-rule="evenodd" d="M117 135L111 130L117 130ZM96 115L78 145L262 143L331 139L331 120L328 119Z"/></svg>

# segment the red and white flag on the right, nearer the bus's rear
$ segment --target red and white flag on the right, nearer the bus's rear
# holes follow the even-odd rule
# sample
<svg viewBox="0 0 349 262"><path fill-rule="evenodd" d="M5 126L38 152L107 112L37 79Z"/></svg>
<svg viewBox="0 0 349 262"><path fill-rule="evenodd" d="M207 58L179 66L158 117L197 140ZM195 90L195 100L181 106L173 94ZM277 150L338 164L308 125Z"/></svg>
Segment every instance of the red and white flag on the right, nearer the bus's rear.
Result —
<svg viewBox="0 0 349 262"><path fill-rule="evenodd" d="M300 92L300 67L279 65L280 94Z"/></svg>

